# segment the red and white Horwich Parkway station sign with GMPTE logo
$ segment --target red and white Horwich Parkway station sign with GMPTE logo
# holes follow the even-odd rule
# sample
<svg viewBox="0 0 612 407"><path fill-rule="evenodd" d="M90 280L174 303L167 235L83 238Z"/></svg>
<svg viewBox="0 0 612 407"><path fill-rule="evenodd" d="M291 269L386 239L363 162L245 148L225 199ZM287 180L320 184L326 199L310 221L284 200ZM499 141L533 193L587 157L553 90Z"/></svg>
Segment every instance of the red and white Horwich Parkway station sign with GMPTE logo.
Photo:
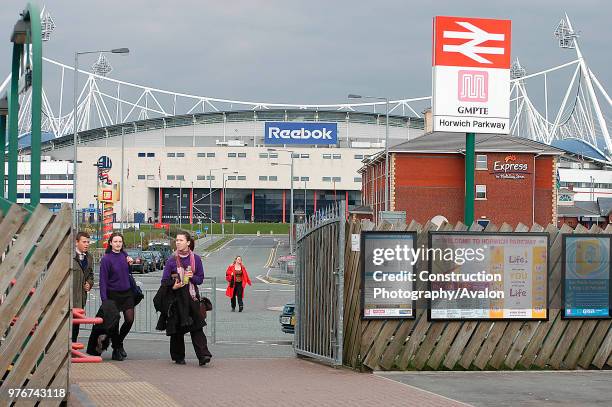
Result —
<svg viewBox="0 0 612 407"><path fill-rule="evenodd" d="M510 20L434 18L434 131L509 132L510 35Z"/></svg>

